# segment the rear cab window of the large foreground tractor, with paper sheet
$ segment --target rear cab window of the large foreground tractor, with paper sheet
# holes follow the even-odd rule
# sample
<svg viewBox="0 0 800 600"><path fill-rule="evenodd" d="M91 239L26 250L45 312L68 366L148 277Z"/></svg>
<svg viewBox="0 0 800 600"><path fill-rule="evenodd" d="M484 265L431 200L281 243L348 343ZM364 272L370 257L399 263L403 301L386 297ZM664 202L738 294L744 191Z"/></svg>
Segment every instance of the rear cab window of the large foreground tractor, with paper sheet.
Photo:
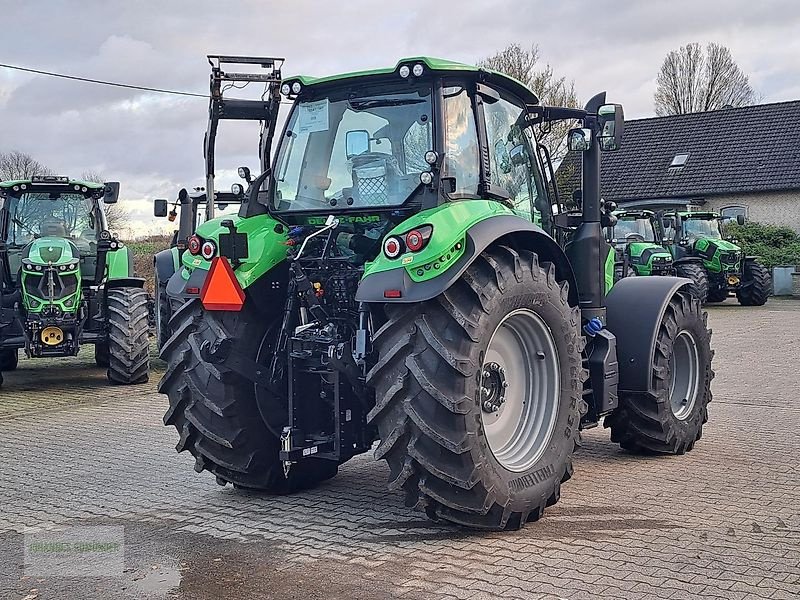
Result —
<svg viewBox="0 0 800 600"><path fill-rule="evenodd" d="M278 150L273 208L403 204L428 171L431 88L348 88L298 101Z"/></svg>

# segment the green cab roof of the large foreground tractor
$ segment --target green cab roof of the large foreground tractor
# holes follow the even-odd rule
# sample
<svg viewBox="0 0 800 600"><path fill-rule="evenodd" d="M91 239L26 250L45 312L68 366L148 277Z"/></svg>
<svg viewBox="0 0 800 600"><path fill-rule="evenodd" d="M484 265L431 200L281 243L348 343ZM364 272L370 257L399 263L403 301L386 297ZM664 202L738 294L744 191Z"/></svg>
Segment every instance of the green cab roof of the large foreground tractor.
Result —
<svg viewBox="0 0 800 600"><path fill-rule="evenodd" d="M513 77L506 75L505 73L501 73L499 71L494 71L492 69L485 69L482 67L476 67L474 65L467 65L460 62L455 62L452 60L447 60L443 58L433 58L430 56L412 56L409 58L402 58L397 61L397 64L394 67L390 68L382 68L382 69L371 69L366 71L353 71L350 73L341 73L338 75L328 75L326 77L310 77L308 75L296 75L294 77L286 77L284 82L292 82L292 81L299 81L303 87L306 86L317 86L326 83L334 83L337 81L344 81L347 79L356 79L360 77L380 77L386 75L397 74L397 71L403 65L408 65L409 67L413 67L413 65L417 63L422 63L426 70L429 72L434 72L437 74L459 74L459 73L474 73L478 79L485 80L487 82L495 82L503 87L509 89L509 91L513 92L517 96L520 96L525 102L529 104L538 104L539 98L536 94L524 83L521 81L514 79ZM399 75L397 75L399 77Z"/></svg>

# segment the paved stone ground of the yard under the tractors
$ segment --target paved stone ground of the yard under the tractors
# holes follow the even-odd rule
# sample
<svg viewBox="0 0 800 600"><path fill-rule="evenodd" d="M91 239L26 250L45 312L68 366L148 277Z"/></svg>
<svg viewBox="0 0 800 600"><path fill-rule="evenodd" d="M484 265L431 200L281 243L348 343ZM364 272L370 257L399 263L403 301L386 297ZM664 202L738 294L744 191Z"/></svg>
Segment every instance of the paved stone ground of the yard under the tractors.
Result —
<svg viewBox="0 0 800 600"><path fill-rule="evenodd" d="M295 496L218 487L174 452L157 373L118 388L88 353L24 360L0 389L0 597L798 598L800 302L729 304L695 450L586 432L561 502L513 533L428 522L366 456ZM25 576L22 532L67 524L124 526L125 573Z"/></svg>

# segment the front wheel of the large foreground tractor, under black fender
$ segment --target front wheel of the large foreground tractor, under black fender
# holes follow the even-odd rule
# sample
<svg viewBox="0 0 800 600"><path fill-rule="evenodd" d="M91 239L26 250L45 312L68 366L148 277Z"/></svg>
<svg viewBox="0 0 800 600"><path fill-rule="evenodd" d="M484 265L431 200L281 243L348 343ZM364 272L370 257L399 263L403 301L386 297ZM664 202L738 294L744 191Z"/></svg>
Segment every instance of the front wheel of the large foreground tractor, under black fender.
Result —
<svg viewBox="0 0 800 600"><path fill-rule="evenodd" d="M679 293L658 329L651 378L653 393L620 391L619 408L606 417L611 441L631 452L683 454L708 421L711 402L711 332L696 298Z"/></svg>

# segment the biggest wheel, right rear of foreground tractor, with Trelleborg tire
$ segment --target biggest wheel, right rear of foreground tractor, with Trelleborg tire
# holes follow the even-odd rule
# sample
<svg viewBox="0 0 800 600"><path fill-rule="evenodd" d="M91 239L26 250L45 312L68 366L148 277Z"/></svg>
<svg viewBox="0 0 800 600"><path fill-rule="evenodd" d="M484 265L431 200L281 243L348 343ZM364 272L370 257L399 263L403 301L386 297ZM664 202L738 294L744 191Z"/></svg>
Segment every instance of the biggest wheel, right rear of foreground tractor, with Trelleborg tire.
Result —
<svg viewBox="0 0 800 600"><path fill-rule="evenodd" d="M407 506L516 529L558 501L583 403L580 313L567 297L552 264L494 247L440 296L385 306L369 419Z"/></svg>

